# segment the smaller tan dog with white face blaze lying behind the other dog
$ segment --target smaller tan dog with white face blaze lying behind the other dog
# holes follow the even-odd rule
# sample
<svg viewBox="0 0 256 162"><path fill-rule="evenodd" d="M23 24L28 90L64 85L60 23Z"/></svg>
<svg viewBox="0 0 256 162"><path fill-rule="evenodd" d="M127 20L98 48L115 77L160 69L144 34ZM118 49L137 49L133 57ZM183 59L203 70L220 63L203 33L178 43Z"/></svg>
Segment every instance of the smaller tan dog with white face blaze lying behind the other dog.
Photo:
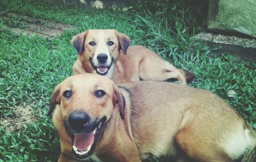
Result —
<svg viewBox="0 0 256 162"><path fill-rule="evenodd" d="M73 74L98 73L114 82L164 81L176 78L181 84L194 75L175 68L142 46L130 46L129 37L111 29L94 29L77 34L72 45L79 54Z"/></svg>

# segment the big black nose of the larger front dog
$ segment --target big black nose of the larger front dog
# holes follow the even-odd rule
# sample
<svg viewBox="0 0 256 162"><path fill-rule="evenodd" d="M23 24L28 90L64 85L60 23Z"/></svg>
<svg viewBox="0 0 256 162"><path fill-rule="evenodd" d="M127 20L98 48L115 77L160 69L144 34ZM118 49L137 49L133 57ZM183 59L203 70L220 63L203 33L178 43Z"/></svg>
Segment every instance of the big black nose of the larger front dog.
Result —
<svg viewBox="0 0 256 162"><path fill-rule="evenodd" d="M72 112L68 117L68 124L72 129L81 131L90 121L90 116L86 112Z"/></svg>

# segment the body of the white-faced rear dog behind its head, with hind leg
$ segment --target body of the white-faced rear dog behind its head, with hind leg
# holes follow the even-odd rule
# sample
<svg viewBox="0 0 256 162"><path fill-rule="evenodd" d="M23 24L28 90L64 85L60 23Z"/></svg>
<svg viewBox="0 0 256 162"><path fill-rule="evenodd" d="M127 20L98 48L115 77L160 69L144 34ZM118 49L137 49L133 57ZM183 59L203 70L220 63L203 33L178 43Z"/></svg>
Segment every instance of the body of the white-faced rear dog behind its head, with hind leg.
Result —
<svg viewBox="0 0 256 162"><path fill-rule="evenodd" d="M184 84L191 82L195 77L193 73L175 68L155 52L140 45L130 46L125 55L121 51L116 60L115 70L114 80L118 83L139 80L164 81L175 78Z"/></svg>

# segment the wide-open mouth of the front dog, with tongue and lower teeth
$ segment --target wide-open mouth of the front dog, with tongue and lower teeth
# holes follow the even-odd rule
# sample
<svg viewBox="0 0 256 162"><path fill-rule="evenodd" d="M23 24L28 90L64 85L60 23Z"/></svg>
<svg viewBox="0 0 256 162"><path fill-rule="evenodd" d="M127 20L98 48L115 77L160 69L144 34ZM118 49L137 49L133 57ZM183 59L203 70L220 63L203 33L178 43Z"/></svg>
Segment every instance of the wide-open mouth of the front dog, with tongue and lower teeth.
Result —
<svg viewBox="0 0 256 162"><path fill-rule="evenodd" d="M72 153L77 159L85 159L93 154L93 149L100 132L105 124L106 117L102 118L96 128L90 133L76 133L72 140Z"/></svg>

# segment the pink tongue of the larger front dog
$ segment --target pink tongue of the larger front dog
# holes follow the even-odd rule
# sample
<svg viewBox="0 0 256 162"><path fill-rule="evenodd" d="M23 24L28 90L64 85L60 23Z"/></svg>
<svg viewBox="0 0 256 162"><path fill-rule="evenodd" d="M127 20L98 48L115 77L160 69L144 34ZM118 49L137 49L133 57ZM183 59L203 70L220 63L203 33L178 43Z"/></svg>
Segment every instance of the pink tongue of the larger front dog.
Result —
<svg viewBox="0 0 256 162"><path fill-rule="evenodd" d="M75 135L74 146L79 151L85 151L94 142L94 133L83 134L79 133Z"/></svg>

